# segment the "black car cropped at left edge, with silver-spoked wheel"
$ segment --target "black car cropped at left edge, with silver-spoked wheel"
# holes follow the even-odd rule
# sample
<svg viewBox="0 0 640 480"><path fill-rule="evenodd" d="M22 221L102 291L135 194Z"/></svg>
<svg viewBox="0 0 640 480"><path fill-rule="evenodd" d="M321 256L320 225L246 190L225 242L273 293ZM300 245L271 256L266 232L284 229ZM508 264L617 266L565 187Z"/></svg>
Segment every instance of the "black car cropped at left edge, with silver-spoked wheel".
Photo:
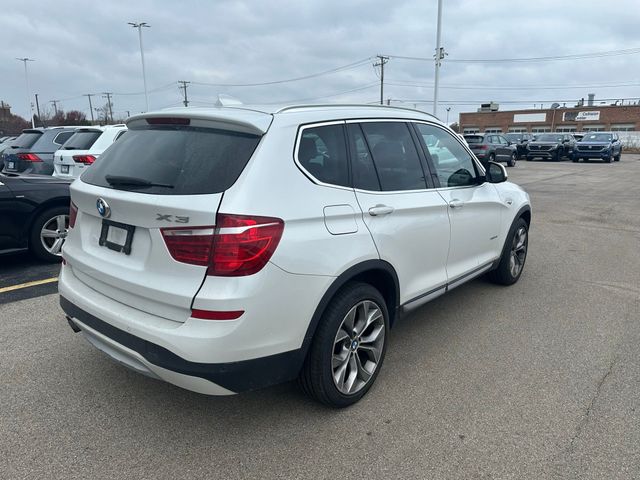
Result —
<svg viewBox="0 0 640 480"><path fill-rule="evenodd" d="M60 260L69 228L69 181L0 173L0 253L30 249Z"/></svg>

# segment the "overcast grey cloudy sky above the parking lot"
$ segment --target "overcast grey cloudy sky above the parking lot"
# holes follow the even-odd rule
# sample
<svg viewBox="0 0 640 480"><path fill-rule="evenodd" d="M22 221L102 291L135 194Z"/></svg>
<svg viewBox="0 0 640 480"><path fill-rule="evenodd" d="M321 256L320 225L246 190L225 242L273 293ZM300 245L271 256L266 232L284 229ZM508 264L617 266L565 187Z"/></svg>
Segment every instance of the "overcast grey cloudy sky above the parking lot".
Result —
<svg viewBox="0 0 640 480"><path fill-rule="evenodd" d="M191 82L190 106L212 105L218 94L247 104L375 103L373 64L386 55L385 102L432 112L437 3L0 0L0 100L29 116L24 66L15 59L28 57L30 98L37 93L41 109L59 100L58 108L90 117L83 95L95 94L95 108L112 92L116 118L144 111L138 31L127 22L146 22L150 110L182 105L179 80ZM501 110L570 106L588 93L597 102L638 101L638 25L637 0L443 0L448 55L437 115L451 123L489 101ZM316 75L323 72L330 73ZM310 78L283 81L300 77ZM268 84L247 85L256 83Z"/></svg>

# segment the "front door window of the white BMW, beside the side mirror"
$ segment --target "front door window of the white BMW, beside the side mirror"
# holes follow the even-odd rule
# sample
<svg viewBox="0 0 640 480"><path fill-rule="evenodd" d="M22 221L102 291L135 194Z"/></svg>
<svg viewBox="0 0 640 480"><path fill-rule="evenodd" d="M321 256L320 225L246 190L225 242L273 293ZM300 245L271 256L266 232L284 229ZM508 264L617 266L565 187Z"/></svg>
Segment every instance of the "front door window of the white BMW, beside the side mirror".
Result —
<svg viewBox="0 0 640 480"><path fill-rule="evenodd" d="M473 158L451 134L424 123L416 124L424 139L441 187L476 185Z"/></svg>

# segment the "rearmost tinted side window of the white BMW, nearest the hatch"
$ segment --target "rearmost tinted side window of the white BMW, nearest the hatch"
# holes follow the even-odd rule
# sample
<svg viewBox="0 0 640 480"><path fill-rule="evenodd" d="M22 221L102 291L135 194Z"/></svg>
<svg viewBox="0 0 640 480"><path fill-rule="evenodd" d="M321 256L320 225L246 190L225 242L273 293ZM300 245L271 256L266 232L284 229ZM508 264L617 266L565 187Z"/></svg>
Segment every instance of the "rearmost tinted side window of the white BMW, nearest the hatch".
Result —
<svg viewBox="0 0 640 480"><path fill-rule="evenodd" d="M323 183L349 185L349 164L342 125L324 125L302 131L298 162Z"/></svg>

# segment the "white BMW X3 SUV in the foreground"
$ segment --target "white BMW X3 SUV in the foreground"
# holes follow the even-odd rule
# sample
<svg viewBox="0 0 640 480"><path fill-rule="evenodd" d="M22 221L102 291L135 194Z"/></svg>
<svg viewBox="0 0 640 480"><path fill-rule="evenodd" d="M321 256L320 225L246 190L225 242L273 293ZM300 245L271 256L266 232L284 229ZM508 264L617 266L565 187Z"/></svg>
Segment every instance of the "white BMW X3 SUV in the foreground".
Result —
<svg viewBox="0 0 640 480"><path fill-rule="evenodd" d="M59 290L73 330L140 373L214 395L298 378L347 406L403 313L522 273L529 196L422 112L237 105L127 127L71 186Z"/></svg>

